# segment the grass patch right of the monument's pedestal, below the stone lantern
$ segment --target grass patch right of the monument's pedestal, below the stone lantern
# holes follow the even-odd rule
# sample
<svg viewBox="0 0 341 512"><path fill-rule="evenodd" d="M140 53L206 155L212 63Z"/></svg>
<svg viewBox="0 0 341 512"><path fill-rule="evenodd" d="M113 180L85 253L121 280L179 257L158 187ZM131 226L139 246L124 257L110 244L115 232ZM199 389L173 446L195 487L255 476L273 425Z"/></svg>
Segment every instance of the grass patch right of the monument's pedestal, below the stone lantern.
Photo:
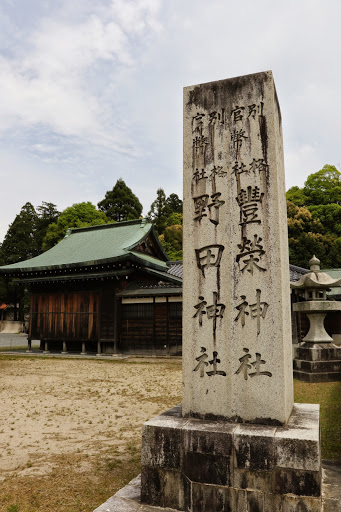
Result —
<svg viewBox="0 0 341 512"><path fill-rule="evenodd" d="M341 382L294 379L296 403L320 404L323 459L341 460Z"/></svg>

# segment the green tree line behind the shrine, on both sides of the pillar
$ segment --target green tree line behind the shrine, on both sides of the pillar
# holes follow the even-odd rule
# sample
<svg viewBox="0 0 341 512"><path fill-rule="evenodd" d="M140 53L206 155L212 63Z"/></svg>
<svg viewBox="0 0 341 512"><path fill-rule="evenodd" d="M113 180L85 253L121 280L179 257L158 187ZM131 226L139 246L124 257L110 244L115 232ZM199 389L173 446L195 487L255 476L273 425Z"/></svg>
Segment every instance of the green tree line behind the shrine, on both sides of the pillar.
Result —
<svg viewBox="0 0 341 512"><path fill-rule="evenodd" d="M341 267L341 173L332 165L310 174L302 188L287 192L290 263L306 268L313 254L324 268ZM120 178L97 205L77 203L62 212L53 203L36 209L26 203L9 226L0 245L0 265L23 261L52 248L68 229L134 220L142 205ZM157 189L147 218L165 252L172 260L182 259L182 201L177 194L166 196ZM0 301L14 302L18 289L0 278Z"/></svg>

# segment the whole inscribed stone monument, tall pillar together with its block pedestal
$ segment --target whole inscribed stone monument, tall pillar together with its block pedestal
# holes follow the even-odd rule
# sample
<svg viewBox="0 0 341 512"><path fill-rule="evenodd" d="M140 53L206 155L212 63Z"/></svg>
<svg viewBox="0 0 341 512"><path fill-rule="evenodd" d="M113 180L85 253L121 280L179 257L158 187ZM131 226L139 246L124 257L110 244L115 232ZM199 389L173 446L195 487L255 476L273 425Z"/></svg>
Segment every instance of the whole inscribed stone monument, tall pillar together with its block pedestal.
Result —
<svg viewBox="0 0 341 512"><path fill-rule="evenodd" d="M141 501L135 482L98 512L321 511L319 406L293 404L288 268L272 73L186 87L183 404L143 426Z"/></svg>

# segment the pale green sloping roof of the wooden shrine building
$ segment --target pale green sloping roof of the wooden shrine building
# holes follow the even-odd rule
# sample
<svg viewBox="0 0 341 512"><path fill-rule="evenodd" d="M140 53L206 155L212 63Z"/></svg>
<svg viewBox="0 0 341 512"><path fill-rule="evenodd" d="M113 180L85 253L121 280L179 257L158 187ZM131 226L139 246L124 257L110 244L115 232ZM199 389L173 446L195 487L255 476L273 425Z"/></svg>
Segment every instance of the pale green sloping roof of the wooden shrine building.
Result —
<svg viewBox="0 0 341 512"><path fill-rule="evenodd" d="M167 268L165 261L133 251L152 230L152 224L145 219L72 229L68 236L49 251L29 260L0 267L0 273L94 265L125 257L163 270ZM157 240L156 236L155 239ZM163 254L164 260L167 260L167 256Z"/></svg>

